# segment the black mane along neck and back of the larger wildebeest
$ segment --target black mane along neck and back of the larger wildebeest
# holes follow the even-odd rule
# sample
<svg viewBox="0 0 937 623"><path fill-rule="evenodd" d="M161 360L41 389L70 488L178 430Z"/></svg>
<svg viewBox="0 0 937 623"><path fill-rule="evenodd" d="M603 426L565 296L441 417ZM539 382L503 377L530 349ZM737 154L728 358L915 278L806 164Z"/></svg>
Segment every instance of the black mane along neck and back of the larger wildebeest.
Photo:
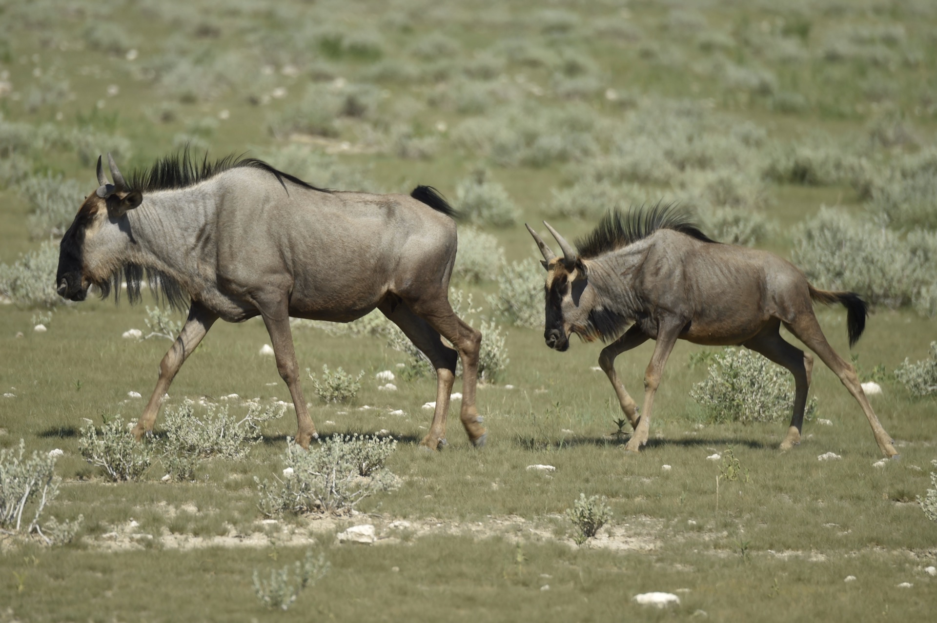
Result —
<svg viewBox="0 0 937 623"><path fill-rule="evenodd" d="M128 183L130 188L139 190L142 193L174 190L194 186L200 181L215 177L222 171L238 167L259 168L261 171L267 171L276 178L276 181L279 181L283 185L284 190L286 190L287 187L284 180L288 180L303 188L321 191L323 193L329 192L323 188L317 188L308 182L293 177L289 173L279 171L257 158L245 158L243 155L231 153L215 162L209 162L208 153L205 153L200 163L197 158L192 157L191 153L188 151L188 147L182 152L172 153L171 155L159 158L149 170L135 169L130 174Z"/></svg>

